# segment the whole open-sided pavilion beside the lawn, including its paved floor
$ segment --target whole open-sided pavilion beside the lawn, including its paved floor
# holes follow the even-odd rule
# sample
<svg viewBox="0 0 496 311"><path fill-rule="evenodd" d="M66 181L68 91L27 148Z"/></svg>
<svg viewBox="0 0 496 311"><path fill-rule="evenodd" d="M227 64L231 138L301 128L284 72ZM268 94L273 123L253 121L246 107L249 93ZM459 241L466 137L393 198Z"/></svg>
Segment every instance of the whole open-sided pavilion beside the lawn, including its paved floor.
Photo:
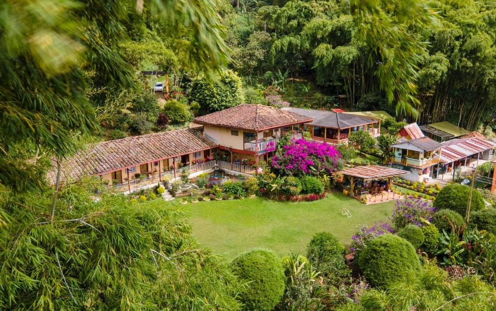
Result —
<svg viewBox="0 0 496 311"><path fill-rule="evenodd" d="M355 166L340 171L348 194L366 203L378 203L399 199L401 195L391 190L391 179L408 174L409 171L387 166Z"/></svg>

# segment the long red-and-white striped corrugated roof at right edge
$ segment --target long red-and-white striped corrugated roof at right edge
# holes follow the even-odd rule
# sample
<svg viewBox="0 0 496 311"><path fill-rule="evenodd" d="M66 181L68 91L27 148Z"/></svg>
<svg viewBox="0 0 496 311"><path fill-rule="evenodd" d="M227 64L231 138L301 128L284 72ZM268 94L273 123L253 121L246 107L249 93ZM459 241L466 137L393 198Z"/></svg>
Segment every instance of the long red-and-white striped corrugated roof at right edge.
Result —
<svg viewBox="0 0 496 311"><path fill-rule="evenodd" d="M451 163L496 147L496 143L477 137L452 139L441 144L443 146L440 156L442 163Z"/></svg>

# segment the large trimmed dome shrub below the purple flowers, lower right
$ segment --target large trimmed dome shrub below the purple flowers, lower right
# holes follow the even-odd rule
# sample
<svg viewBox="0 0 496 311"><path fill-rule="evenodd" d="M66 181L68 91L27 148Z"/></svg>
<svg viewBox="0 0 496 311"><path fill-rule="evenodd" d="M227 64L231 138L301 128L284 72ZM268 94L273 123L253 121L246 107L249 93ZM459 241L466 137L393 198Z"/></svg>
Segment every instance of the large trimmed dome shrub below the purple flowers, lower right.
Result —
<svg viewBox="0 0 496 311"><path fill-rule="evenodd" d="M404 238L383 234L365 246L358 257L358 266L364 277L374 287L388 288L405 276L408 271L421 271L419 257L412 244Z"/></svg>

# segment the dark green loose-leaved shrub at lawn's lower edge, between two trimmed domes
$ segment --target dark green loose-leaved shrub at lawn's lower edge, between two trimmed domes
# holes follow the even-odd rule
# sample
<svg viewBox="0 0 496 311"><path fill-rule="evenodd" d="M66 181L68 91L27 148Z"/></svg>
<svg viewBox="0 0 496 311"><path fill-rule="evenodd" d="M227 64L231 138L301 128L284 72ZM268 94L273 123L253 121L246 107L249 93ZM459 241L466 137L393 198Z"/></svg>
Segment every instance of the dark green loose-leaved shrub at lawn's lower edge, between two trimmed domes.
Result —
<svg viewBox="0 0 496 311"><path fill-rule="evenodd" d="M307 246L307 258L315 270L320 271L329 283L337 283L350 274L345 264L345 247L331 233L313 235Z"/></svg>

